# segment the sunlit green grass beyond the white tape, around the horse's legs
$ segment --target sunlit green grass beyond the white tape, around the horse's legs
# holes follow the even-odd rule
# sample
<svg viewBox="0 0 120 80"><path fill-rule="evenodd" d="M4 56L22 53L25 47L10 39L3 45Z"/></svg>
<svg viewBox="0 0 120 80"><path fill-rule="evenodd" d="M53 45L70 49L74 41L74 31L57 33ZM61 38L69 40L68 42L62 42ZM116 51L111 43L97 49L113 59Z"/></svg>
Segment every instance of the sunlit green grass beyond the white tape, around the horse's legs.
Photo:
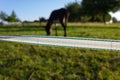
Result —
<svg viewBox="0 0 120 80"><path fill-rule="evenodd" d="M63 36L63 28L58 25L58 35ZM52 36L55 36L54 25L52 26ZM45 27L39 25L25 25L24 27L0 27L0 35L38 35L45 36ZM120 40L119 24L68 24L68 37L85 37L85 38L101 38L101 39L117 39Z"/></svg>

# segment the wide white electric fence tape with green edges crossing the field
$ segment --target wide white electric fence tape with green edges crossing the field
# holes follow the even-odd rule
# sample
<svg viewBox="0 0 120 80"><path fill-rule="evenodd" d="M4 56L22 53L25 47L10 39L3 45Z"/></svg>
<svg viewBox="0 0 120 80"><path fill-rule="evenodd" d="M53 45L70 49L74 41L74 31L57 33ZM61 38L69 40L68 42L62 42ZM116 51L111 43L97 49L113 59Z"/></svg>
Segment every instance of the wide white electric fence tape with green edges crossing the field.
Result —
<svg viewBox="0 0 120 80"><path fill-rule="evenodd" d="M47 46L77 47L120 51L120 40L65 37L1 36L0 40Z"/></svg>

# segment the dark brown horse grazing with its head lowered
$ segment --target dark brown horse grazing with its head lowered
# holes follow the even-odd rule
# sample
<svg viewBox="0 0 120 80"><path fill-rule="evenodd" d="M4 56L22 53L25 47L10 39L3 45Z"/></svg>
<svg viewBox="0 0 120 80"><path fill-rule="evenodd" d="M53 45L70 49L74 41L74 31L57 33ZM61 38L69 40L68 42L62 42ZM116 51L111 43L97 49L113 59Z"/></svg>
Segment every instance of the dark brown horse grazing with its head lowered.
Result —
<svg viewBox="0 0 120 80"><path fill-rule="evenodd" d="M62 27L64 28L64 36L67 36L66 27L67 27L68 17L69 17L69 12L65 8L52 11L46 25L47 35L49 36L51 34L51 25L54 23L54 21L59 21Z"/></svg>

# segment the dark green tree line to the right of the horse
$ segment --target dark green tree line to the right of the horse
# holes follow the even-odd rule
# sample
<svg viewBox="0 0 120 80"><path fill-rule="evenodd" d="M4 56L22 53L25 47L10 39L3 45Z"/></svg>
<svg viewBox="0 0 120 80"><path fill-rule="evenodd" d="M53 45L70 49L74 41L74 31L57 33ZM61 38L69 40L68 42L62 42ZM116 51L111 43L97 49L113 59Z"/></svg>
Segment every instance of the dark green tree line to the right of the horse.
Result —
<svg viewBox="0 0 120 80"><path fill-rule="evenodd" d="M106 22L111 19L109 12L120 9L120 0L82 0L65 6L70 11L71 22Z"/></svg>

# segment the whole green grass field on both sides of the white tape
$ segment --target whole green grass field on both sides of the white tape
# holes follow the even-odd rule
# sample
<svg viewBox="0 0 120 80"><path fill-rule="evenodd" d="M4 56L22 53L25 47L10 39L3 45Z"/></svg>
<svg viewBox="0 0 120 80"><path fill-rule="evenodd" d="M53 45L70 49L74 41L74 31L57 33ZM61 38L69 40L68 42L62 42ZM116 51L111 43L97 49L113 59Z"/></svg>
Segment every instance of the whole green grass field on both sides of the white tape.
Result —
<svg viewBox="0 0 120 80"><path fill-rule="evenodd" d="M59 35L63 30L59 28ZM0 27L0 35L45 35L44 26ZM53 34L54 35L54 28ZM68 36L120 39L119 24L69 24ZM120 52L0 41L0 80L120 80Z"/></svg>

